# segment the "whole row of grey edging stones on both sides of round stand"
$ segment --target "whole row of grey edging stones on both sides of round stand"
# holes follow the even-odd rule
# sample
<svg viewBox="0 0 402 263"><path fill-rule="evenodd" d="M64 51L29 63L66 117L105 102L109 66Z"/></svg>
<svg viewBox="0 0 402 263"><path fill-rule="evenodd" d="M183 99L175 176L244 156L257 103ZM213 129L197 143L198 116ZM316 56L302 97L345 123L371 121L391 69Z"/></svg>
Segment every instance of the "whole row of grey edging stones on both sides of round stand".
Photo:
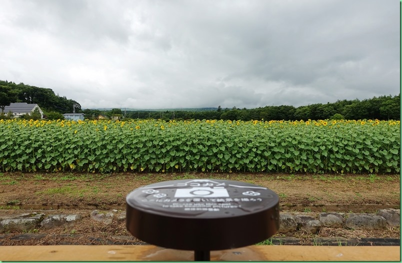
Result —
<svg viewBox="0 0 402 263"><path fill-rule="evenodd" d="M93 210L90 218L105 225L113 220L125 220L125 211ZM73 227L75 222L82 219L81 215L47 215L43 213L21 214L12 218L0 218L0 233L31 232L35 229L52 229ZM399 209L381 209L376 214L354 213L281 213L278 233L305 231L317 234L321 227L344 228L352 230L383 230L386 227L400 226Z"/></svg>

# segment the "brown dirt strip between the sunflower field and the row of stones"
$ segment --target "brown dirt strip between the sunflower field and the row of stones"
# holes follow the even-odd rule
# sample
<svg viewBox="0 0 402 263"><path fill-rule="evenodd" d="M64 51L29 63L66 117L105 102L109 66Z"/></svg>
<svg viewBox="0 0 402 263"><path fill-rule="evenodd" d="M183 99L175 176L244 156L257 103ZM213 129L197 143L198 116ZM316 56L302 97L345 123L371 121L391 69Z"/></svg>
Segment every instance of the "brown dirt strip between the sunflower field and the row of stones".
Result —
<svg viewBox="0 0 402 263"><path fill-rule="evenodd" d="M282 211L370 212L399 208L398 175L285 174L0 174L0 207L124 209L140 186L176 179L226 179L261 185L280 197Z"/></svg>

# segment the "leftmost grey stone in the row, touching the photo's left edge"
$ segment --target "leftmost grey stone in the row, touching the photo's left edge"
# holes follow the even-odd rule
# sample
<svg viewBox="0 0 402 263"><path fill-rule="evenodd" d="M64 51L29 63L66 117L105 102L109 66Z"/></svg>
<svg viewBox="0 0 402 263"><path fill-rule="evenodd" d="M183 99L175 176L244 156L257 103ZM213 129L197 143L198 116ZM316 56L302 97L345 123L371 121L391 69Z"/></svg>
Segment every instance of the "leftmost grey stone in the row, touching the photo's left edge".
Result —
<svg viewBox="0 0 402 263"><path fill-rule="evenodd" d="M19 218L4 219L0 221L0 233L8 231L29 232L39 227L44 214L27 214Z"/></svg>

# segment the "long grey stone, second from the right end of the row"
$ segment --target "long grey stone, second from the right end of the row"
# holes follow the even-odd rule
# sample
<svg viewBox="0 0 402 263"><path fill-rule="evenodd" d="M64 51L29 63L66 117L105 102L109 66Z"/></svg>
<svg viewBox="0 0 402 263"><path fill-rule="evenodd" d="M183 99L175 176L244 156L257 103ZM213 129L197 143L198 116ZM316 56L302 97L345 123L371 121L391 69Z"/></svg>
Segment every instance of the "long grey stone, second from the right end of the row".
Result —
<svg viewBox="0 0 402 263"><path fill-rule="evenodd" d="M386 220L374 214L349 214L344 227L353 230L383 230L386 229Z"/></svg>

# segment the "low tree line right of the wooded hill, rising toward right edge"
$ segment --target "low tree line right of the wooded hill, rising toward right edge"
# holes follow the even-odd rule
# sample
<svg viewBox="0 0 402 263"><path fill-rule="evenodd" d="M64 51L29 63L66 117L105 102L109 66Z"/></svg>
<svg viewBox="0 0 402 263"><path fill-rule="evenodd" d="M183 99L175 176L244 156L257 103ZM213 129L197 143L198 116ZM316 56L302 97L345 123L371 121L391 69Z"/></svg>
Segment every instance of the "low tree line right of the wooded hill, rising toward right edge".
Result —
<svg viewBox="0 0 402 263"><path fill-rule="evenodd" d="M112 109L108 111L84 109L86 118L97 118L104 115L129 119L162 119L191 120L191 119L222 119L222 120L325 120L325 119L400 119L400 93L395 96L379 96L364 100L337 100L334 103L315 103L307 106L265 106L253 109L222 109L191 111L126 111Z"/></svg>

